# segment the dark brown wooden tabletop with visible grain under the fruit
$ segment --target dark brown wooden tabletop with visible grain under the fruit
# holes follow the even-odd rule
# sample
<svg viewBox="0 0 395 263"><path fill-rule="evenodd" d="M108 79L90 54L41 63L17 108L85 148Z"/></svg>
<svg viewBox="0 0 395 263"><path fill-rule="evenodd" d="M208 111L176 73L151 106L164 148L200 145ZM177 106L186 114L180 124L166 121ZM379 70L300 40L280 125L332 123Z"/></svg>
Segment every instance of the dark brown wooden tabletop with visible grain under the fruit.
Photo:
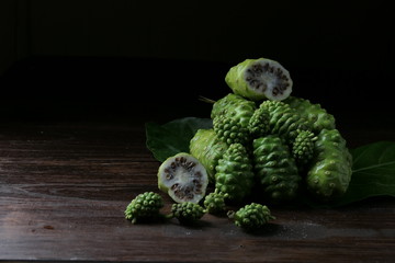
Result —
<svg viewBox="0 0 395 263"><path fill-rule="evenodd" d="M360 138L354 145L372 139L353 130L346 135ZM143 125L1 126L0 260L393 262L395 256L393 198L337 209L273 207L278 219L256 235L211 215L195 227L177 220L132 225L124 209L137 194L158 192L158 167L145 147ZM160 194L169 209L171 201Z"/></svg>

